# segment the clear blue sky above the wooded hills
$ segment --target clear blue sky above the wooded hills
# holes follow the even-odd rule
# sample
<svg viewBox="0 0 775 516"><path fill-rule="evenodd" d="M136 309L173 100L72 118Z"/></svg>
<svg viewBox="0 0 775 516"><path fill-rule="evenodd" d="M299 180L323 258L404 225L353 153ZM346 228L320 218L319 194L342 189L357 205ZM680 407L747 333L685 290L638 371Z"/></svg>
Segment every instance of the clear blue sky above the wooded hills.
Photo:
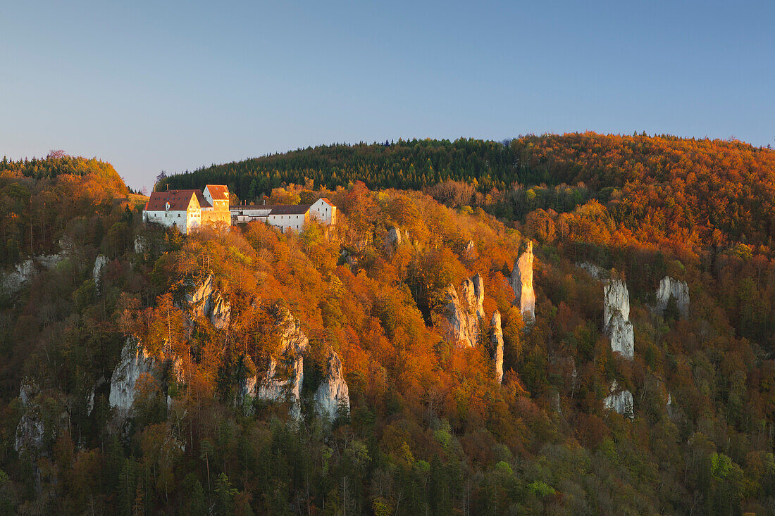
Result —
<svg viewBox="0 0 775 516"><path fill-rule="evenodd" d="M133 187L319 143L775 143L775 2L3 2L0 155Z"/></svg>

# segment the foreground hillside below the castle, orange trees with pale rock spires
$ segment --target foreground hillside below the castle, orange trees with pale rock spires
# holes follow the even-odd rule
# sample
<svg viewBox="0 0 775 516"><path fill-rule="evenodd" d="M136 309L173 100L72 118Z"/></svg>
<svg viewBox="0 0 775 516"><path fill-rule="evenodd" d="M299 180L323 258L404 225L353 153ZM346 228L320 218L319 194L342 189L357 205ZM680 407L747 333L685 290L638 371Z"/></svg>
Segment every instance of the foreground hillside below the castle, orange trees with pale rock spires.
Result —
<svg viewBox="0 0 775 516"><path fill-rule="evenodd" d="M299 234L59 212L0 297L0 511L775 511L769 249L450 191L286 185L341 210Z"/></svg>

